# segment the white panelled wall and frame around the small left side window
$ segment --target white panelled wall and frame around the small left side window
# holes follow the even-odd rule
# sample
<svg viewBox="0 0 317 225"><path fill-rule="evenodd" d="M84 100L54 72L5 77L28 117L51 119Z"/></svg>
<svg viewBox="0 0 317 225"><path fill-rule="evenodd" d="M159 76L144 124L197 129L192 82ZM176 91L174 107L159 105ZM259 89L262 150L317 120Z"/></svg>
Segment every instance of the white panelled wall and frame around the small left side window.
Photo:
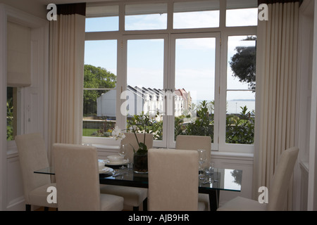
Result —
<svg viewBox="0 0 317 225"><path fill-rule="evenodd" d="M0 18L0 105L6 105L6 23L10 21L31 29L32 84L19 91L18 134L41 132L47 143L49 23L4 4L0 4ZM1 107L0 118L4 121L0 123L0 210L24 210L18 151L14 141L6 141L6 107Z"/></svg>

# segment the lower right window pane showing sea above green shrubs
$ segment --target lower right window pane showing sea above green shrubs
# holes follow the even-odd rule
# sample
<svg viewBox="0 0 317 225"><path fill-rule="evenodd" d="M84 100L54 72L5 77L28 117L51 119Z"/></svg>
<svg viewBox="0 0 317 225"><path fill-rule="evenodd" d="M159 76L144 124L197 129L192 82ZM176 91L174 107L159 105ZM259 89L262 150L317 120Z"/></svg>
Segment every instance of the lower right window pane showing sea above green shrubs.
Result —
<svg viewBox="0 0 317 225"><path fill-rule="evenodd" d="M227 91L226 143L254 143L255 92Z"/></svg>

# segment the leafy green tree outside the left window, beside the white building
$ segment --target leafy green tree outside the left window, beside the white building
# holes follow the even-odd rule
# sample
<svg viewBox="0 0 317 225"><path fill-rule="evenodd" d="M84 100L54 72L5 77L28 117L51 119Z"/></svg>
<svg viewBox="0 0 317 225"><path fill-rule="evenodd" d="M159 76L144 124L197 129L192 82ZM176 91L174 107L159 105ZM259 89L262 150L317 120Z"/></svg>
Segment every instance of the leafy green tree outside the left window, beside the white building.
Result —
<svg viewBox="0 0 317 225"><path fill-rule="evenodd" d="M84 88L115 88L117 77L104 68L93 65L84 67ZM106 90L84 90L84 115L97 115L97 98Z"/></svg>

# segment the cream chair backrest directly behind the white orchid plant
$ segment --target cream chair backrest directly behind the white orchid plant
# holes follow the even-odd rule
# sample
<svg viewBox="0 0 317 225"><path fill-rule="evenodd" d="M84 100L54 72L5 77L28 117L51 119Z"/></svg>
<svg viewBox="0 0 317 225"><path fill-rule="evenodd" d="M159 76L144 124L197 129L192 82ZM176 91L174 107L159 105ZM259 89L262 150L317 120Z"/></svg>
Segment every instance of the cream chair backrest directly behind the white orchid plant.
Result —
<svg viewBox="0 0 317 225"><path fill-rule="evenodd" d="M139 140L139 142L143 143L144 134L137 133L137 139ZM133 162L133 148L135 148L135 150L139 148L139 146L137 145L137 139L135 138L134 133L125 133L125 138L121 141L121 144L128 145L128 153L125 158L128 158L130 162ZM147 145L147 149L153 147L153 134L145 134L145 144Z"/></svg>

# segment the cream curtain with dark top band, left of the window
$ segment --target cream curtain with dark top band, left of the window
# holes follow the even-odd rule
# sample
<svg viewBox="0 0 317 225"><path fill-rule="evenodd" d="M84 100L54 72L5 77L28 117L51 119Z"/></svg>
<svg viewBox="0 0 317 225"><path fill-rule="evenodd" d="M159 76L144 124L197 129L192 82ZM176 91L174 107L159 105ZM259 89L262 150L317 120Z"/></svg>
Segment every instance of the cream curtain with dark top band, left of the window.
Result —
<svg viewBox="0 0 317 225"><path fill-rule="evenodd" d="M61 14L51 21L49 150L53 143L81 143L84 48L85 15Z"/></svg>

